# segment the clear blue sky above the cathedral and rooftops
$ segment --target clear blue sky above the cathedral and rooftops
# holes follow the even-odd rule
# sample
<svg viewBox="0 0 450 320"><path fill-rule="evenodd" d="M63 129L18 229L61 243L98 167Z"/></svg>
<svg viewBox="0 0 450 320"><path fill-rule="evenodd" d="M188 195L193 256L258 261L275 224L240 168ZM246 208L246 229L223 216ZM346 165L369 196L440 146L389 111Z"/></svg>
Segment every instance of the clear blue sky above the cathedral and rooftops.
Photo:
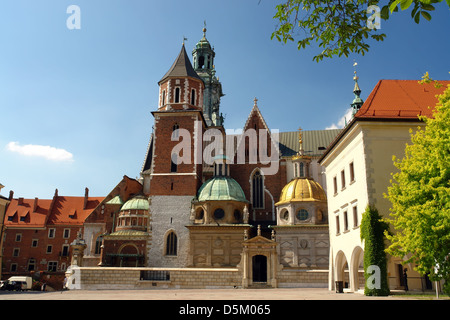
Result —
<svg viewBox="0 0 450 320"><path fill-rule="evenodd" d="M312 61L270 36L270 0L3 0L0 10L0 183L3 196L105 196L136 178L158 102L157 82L183 37L191 52L207 23L226 94L225 127L240 129L253 98L272 129L318 130L339 122L353 100L353 62L362 98L380 79L448 80L450 11L436 6L416 25L410 10L382 21L385 41L365 56ZM66 12L81 9L81 29ZM192 59L191 59L192 61ZM42 146L46 148L43 149ZM41 152L41 153L39 153ZM42 153L43 152L43 153ZM53 159L48 156L54 155ZM46 157L47 156L47 157Z"/></svg>

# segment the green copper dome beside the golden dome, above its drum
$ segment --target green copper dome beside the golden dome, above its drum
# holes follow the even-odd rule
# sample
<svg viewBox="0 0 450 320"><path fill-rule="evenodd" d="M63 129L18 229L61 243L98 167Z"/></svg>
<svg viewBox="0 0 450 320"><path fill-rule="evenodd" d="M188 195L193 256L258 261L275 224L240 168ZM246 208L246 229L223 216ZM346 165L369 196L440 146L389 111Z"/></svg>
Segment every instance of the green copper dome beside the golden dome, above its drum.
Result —
<svg viewBox="0 0 450 320"><path fill-rule="evenodd" d="M239 183L230 177L214 177L198 190L198 201L234 200L248 202Z"/></svg>

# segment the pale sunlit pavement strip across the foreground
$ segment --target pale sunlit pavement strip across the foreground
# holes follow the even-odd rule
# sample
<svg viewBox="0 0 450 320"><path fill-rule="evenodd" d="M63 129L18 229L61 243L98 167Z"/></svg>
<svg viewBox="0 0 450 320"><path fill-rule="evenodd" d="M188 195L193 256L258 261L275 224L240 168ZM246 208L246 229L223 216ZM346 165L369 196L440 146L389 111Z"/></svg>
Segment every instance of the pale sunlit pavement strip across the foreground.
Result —
<svg viewBox="0 0 450 320"><path fill-rule="evenodd" d="M148 289L1 292L0 300L404 300L404 296L366 297L328 289Z"/></svg>

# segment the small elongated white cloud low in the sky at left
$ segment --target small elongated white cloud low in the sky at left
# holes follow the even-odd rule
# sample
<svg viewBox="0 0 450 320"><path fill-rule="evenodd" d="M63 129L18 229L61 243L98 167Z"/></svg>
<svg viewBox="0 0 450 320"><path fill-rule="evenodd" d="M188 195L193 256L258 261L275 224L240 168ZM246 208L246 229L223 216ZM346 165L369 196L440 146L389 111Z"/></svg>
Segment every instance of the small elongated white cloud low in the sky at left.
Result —
<svg viewBox="0 0 450 320"><path fill-rule="evenodd" d="M73 161L73 154L64 149L50 146L40 146L36 144L19 145L17 142L10 142L6 149L29 157L42 157L52 161Z"/></svg>

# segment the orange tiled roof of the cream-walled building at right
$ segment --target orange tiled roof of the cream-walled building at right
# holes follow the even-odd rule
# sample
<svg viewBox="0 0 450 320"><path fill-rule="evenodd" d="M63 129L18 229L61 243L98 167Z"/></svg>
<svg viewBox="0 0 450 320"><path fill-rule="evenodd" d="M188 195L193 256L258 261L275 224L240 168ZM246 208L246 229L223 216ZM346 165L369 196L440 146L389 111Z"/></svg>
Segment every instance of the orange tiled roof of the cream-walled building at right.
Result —
<svg viewBox="0 0 450 320"><path fill-rule="evenodd" d="M417 119L418 115L432 116L437 98L450 84L435 88L433 83L417 80L380 80L356 113L357 119ZM429 108L431 107L431 108Z"/></svg>

